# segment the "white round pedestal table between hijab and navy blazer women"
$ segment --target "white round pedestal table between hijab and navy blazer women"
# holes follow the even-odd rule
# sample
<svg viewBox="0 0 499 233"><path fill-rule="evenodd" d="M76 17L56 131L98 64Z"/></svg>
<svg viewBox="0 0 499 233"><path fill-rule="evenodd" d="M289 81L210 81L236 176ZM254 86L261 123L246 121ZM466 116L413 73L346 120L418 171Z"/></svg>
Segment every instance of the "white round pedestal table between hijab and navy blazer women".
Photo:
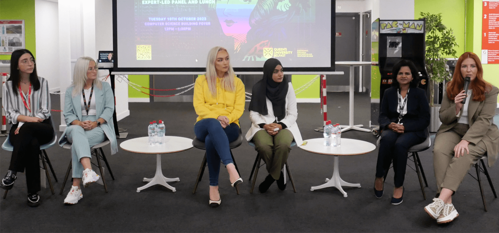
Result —
<svg viewBox="0 0 499 233"><path fill-rule="evenodd" d="M304 140L303 142L307 142L306 145L300 146L301 149L312 152L315 154L323 154L323 155L333 155L334 156L334 168L333 168L333 176L331 179L326 178L326 183L319 186L313 186L310 188L310 191L314 191L317 189L323 189L327 187L336 187L342 194L343 197L347 197L346 192L341 188L341 186L347 187L357 187L360 188L360 184L351 184L343 181L340 178L339 174L339 158L338 156L348 156L348 155L362 155L367 154L374 149L376 146L372 143L356 140L356 139L341 139L340 147L332 147L332 146L324 146L324 138L314 138Z"/></svg>

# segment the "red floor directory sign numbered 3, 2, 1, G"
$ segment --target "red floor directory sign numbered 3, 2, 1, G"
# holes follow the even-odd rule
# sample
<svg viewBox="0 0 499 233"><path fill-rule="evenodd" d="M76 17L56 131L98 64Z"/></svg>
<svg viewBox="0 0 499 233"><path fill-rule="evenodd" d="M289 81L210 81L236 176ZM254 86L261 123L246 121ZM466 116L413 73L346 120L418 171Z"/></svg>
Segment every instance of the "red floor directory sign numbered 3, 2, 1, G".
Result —
<svg viewBox="0 0 499 233"><path fill-rule="evenodd" d="M499 64L499 0L482 6L482 64Z"/></svg>

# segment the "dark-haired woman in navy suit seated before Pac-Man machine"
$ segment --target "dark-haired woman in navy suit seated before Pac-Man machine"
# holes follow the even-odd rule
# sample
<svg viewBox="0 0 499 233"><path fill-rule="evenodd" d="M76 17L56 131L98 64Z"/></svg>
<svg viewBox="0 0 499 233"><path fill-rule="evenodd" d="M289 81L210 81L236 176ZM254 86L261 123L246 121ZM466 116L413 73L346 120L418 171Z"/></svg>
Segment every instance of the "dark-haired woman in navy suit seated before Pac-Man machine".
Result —
<svg viewBox="0 0 499 233"><path fill-rule="evenodd" d="M376 164L374 194L377 198L383 196L383 177L393 161L393 205L403 201L407 151L426 139L425 129L430 125L430 107L425 91L417 87L418 76L414 63L399 61L392 70L392 87L385 90L381 101L379 126L383 132Z"/></svg>

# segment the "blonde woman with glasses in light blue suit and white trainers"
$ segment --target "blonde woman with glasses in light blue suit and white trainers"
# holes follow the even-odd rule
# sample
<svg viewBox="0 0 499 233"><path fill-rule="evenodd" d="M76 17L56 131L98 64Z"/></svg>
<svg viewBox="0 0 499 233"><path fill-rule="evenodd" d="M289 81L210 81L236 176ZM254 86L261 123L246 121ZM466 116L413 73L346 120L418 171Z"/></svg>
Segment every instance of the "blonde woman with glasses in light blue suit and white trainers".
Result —
<svg viewBox="0 0 499 233"><path fill-rule="evenodd" d="M113 124L114 97L111 86L97 79L97 65L90 57L76 60L73 83L66 89L64 119L66 130L59 146L71 143L73 185L64 204L76 204L83 197L83 187L95 183L99 176L90 164L90 148L107 139L111 142L111 154L118 151Z"/></svg>

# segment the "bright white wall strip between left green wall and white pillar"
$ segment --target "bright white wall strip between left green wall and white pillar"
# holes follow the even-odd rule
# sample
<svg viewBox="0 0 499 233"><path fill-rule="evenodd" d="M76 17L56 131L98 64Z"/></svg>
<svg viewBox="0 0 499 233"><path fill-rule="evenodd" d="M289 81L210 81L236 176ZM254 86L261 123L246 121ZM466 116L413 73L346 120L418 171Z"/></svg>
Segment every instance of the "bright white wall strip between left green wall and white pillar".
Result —
<svg viewBox="0 0 499 233"><path fill-rule="evenodd" d="M35 0L36 71L50 92L59 91L59 17L57 2Z"/></svg>

